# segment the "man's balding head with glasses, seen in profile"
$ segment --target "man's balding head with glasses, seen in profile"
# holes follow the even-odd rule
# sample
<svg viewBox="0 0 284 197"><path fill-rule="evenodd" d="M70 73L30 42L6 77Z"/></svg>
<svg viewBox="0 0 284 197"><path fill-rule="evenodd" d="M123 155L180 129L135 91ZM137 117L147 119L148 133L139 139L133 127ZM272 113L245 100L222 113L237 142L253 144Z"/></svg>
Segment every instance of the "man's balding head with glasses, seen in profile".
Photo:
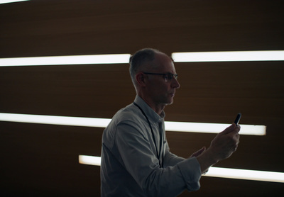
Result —
<svg viewBox="0 0 284 197"><path fill-rule="evenodd" d="M172 58L151 48L139 50L130 58L130 74L136 92L152 106L173 103L180 87Z"/></svg>

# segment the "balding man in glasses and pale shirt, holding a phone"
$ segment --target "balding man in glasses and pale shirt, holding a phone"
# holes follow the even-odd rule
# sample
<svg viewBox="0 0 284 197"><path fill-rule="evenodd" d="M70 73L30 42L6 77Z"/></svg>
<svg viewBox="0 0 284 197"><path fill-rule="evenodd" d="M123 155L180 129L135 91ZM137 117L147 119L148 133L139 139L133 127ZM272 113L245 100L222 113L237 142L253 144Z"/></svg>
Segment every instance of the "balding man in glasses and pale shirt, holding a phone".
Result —
<svg viewBox="0 0 284 197"><path fill-rule="evenodd" d="M232 124L210 147L178 157L165 137L164 108L180 88L173 60L163 52L143 49L130 58L136 89L133 103L118 111L102 136L102 196L178 196L200 188L200 177L239 143L239 125Z"/></svg>

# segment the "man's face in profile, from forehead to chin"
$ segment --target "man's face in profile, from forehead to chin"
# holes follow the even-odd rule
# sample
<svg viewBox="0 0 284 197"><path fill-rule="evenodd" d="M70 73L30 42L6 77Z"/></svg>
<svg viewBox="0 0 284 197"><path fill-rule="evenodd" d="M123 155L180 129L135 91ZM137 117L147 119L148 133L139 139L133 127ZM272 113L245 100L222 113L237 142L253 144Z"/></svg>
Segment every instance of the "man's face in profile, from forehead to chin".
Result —
<svg viewBox="0 0 284 197"><path fill-rule="evenodd" d="M157 66L149 72L160 74L176 74L173 61L164 54L156 54L154 64ZM148 72L148 71L147 71ZM173 103L176 89L180 88L178 80L173 77L170 80L165 80L163 75L147 74L148 83L146 86L149 99L155 105L168 105Z"/></svg>

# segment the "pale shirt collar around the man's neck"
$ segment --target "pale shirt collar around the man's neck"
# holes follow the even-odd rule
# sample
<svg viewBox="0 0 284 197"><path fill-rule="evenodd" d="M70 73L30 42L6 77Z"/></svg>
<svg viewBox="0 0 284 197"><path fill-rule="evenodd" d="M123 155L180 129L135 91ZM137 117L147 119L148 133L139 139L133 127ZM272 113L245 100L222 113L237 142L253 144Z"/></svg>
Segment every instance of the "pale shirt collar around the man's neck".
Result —
<svg viewBox="0 0 284 197"><path fill-rule="evenodd" d="M134 102L142 108L146 116L148 116L149 120L153 121L153 123L160 123L163 121L163 118L165 118L164 111L158 115L140 96L136 95Z"/></svg>

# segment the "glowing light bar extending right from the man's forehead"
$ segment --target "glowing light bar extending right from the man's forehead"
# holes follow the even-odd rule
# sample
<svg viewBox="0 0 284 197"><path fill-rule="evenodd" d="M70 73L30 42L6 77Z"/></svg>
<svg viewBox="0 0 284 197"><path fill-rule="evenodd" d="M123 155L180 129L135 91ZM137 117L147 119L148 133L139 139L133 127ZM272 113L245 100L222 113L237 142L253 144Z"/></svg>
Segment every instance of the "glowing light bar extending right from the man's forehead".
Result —
<svg viewBox="0 0 284 197"><path fill-rule="evenodd" d="M284 50L173 52L175 62L283 61Z"/></svg>

